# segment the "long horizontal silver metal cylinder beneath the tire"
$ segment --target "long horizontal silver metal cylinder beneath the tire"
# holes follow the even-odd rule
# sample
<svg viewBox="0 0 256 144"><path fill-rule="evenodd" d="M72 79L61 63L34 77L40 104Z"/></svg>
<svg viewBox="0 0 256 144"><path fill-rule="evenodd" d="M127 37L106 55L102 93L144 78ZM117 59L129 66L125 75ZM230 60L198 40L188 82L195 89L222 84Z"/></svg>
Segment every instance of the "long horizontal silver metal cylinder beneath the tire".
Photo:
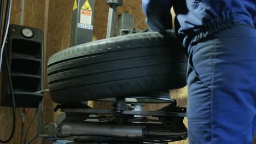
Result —
<svg viewBox="0 0 256 144"><path fill-rule="evenodd" d="M182 121L181 121L182 123ZM183 124L183 123L182 123ZM179 127L179 125L177 125ZM185 126L184 126L185 127ZM187 137L187 129L174 130L173 127L157 124L114 124L114 123L51 123L48 133L53 137L72 137L72 136L99 136L112 137L113 139L150 139L159 140L162 137L172 139L173 137Z"/></svg>

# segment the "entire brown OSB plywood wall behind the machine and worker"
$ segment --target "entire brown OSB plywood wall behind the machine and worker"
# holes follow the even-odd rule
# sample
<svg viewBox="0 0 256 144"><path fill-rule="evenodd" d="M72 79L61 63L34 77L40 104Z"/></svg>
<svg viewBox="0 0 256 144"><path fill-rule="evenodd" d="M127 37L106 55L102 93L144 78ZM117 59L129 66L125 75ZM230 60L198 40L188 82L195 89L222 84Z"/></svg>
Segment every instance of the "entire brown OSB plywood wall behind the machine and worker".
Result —
<svg viewBox="0 0 256 144"><path fill-rule="evenodd" d="M46 45L46 63L50 56L54 53L67 49L69 47L70 27L71 27L71 13L74 0L50 0L49 1L49 16L48 16L48 33L47 33L47 45ZM108 5L106 1L96 0L95 3L95 16L94 16L94 40L104 39L106 37L107 19L108 19ZM13 0L13 11L11 13L11 23L19 23L19 10L20 1ZM118 8L118 14L130 13L135 16L135 27L138 29L146 28L147 25L144 22L145 16L142 13L141 0L124 0L123 7ZM26 26L44 28L44 0L26 0L25 10L25 22ZM46 69L45 69L46 70ZM45 77L45 88L48 87L47 76ZM179 106L185 106L187 104L187 87L170 91L172 98L178 100ZM102 103L91 103L98 108L104 108ZM55 104L51 101L49 93L44 97L44 120L45 124L53 122L56 118L56 113L53 112ZM146 105L146 110L160 109L164 105ZM35 110L29 109L26 115L25 129L27 129L28 123L30 123ZM10 143L19 143L20 140L20 117L17 114L17 128L13 141ZM11 129L11 109L0 107L0 138L6 139L9 136ZM186 123L186 122L185 122ZM30 138L36 131L36 123L33 124L32 130L28 134ZM40 143L40 140L36 140L33 143ZM188 143L188 141L181 141L177 143Z"/></svg>

